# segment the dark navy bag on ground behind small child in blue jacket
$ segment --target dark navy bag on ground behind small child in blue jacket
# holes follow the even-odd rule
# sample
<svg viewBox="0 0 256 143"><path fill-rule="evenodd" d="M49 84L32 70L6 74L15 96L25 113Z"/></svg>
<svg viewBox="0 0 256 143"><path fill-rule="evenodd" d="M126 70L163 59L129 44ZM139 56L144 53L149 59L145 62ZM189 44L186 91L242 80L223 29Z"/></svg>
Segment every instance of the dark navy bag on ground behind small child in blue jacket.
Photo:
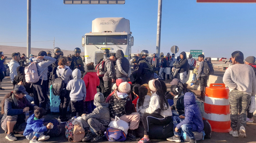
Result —
<svg viewBox="0 0 256 143"><path fill-rule="evenodd" d="M49 135L51 137L54 137L54 136L59 136L61 134L62 129L61 129L60 121L58 119L45 120L44 123L52 123L53 124L53 128L44 132L44 135Z"/></svg>

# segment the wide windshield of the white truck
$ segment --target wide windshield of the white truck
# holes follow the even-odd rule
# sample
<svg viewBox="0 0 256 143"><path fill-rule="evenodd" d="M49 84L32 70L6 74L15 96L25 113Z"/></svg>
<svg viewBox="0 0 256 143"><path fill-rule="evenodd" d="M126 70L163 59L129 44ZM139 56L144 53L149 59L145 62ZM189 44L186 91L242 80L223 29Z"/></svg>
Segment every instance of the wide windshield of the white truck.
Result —
<svg viewBox="0 0 256 143"><path fill-rule="evenodd" d="M128 42L127 35L115 36L86 36L87 45L126 45Z"/></svg>

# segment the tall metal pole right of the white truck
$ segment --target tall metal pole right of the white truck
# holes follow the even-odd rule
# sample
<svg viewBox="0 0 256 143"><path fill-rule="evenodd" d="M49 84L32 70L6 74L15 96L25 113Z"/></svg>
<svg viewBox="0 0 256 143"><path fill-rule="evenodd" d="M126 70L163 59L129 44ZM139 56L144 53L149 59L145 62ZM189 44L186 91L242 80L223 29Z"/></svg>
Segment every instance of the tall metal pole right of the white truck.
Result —
<svg viewBox="0 0 256 143"><path fill-rule="evenodd" d="M160 55L161 20L162 20L162 0L158 0L157 32L156 32L156 56L158 57Z"/></svg>

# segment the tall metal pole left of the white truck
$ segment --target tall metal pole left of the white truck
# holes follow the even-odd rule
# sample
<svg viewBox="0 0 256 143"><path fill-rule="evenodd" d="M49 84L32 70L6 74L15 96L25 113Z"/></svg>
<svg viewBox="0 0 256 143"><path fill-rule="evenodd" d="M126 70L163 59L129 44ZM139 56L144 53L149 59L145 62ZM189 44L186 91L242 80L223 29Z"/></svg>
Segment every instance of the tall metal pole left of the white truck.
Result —
<svg viewBox="0 0 256 143"><path fill-rule="evenodd" d="M27 0L27 57L31 53L31 0Z"/></svg>

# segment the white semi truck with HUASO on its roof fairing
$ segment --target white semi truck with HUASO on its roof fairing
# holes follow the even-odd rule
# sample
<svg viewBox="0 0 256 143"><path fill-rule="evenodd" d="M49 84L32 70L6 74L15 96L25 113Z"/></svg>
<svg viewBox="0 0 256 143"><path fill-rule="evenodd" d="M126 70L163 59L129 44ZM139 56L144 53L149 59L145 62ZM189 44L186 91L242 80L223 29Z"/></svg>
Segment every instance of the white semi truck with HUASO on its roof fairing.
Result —
<svg viewBox="0 0 256 143"><path fill-rule="evenodd" d="M104 49L109 49L110 54L120 49L129 60L133 43L128 19L96 18L92 21L92 32L82 36L85 63L97 64L103 57Z"/></svg>

